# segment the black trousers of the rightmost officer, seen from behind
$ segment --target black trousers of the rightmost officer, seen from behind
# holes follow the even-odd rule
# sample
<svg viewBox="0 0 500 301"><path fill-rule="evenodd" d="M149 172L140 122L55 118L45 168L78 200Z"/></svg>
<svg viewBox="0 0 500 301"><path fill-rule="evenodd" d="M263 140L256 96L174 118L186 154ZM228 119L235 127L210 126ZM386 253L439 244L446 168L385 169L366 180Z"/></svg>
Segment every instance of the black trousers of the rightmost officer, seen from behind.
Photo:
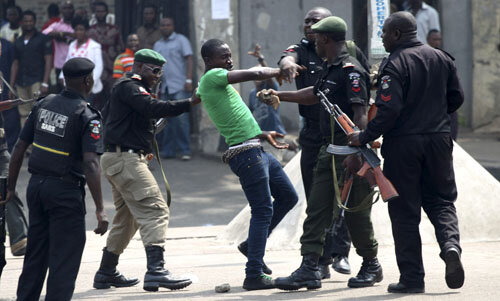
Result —
<svg viewBox="0 0 500 301"><path fill-rule="evenodd" d="M449 133L389 138L382 145L384 174L399 193L388 205L399 281L409 286L424 284L421 208L434 226L441 258L452 246L461 250L452 151Z"/></svg>

